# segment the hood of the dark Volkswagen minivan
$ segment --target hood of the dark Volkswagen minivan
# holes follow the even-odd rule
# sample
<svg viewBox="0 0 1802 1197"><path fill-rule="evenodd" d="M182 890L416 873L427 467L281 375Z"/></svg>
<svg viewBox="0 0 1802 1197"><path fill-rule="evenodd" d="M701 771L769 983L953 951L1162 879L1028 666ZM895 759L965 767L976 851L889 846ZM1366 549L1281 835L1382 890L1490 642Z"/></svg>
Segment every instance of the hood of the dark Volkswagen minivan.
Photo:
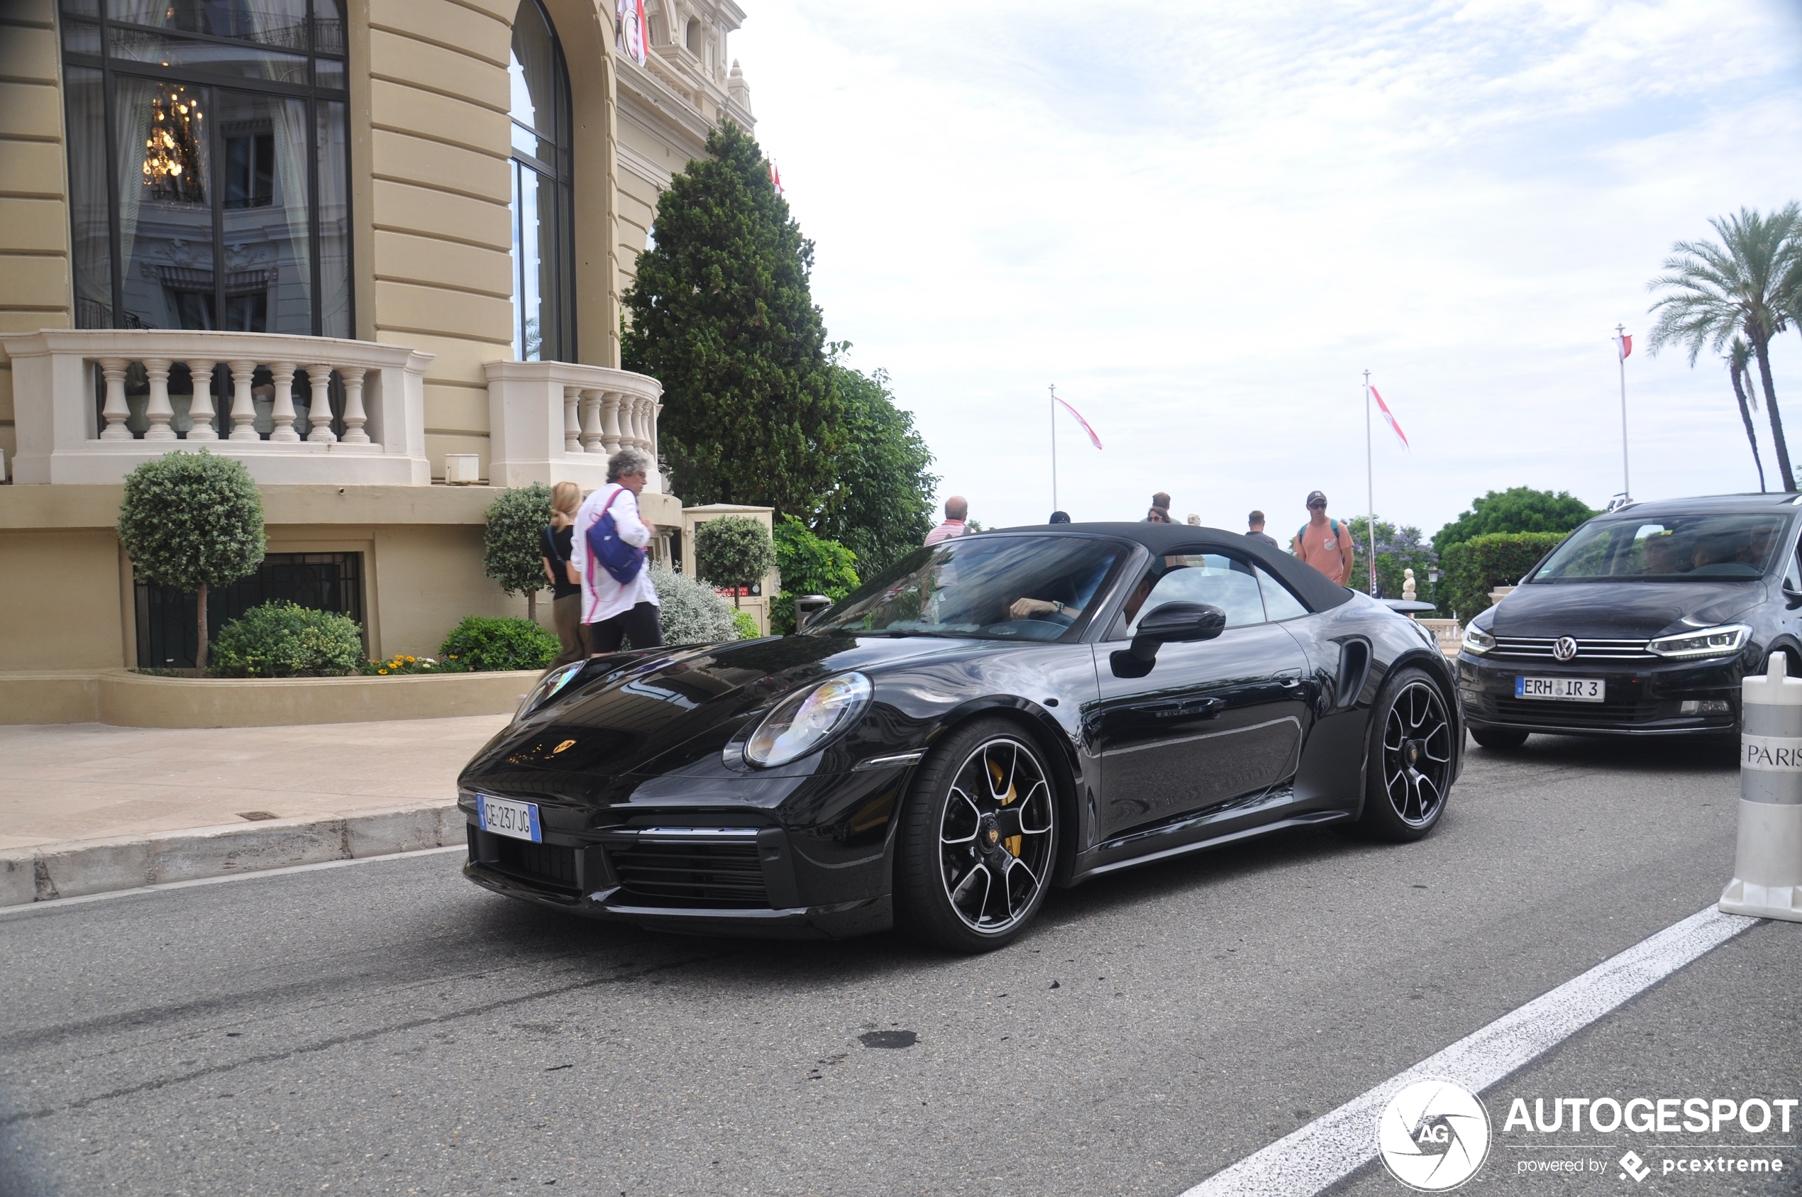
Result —
<svg viewBox="0 0 1802 1197"><path fill-rule="evenodd" d="M1534 582L1490 608L1492 636L1651 640L1730 624L1764 600L1764 582Z"/></svg>

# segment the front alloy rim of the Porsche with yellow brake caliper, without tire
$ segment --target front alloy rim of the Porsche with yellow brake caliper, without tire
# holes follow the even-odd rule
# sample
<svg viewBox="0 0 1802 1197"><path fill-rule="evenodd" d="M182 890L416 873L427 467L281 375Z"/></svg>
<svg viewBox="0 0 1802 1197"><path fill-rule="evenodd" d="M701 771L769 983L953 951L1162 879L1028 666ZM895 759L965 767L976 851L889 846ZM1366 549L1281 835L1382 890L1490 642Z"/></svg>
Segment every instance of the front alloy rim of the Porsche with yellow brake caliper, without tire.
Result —
<svg viewBox="0 0 1802 1197"><path fill-rule="evenodd" d="M951 773L939 820L939 874L966 927L998 934L1051 880L1056 802L1038 755L1018 739L978 745Z"/></svg>

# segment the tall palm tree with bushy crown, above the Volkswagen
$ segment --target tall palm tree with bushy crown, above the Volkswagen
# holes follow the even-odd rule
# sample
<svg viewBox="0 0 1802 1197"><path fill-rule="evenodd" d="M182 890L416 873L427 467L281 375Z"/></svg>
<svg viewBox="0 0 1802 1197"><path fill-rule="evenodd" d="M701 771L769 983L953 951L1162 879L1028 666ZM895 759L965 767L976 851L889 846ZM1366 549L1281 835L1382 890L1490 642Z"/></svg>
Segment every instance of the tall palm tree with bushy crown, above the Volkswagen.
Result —
<svg viewBox="0 0 1802 1197"><path fill-rule="evenodd" d="M1667 274L1647 283L1651 290L1667 292L1651 308L1658 314L1652 353L1665 344L1679 344L1688 350L1694 366L1705 346L1719 353L1730 337L1744 335L1764 384L1777 469L1782 472L1784 490L1795 490L1789 443L1784 440L1777 389L1771 386L1771 337L1788 326L1786 287L1795 272L1802 206L1791 202L1771 216L1743 207L1737 216L1716 216L1708 224L1721 243L1678 242L1665 258Z"/></svg>

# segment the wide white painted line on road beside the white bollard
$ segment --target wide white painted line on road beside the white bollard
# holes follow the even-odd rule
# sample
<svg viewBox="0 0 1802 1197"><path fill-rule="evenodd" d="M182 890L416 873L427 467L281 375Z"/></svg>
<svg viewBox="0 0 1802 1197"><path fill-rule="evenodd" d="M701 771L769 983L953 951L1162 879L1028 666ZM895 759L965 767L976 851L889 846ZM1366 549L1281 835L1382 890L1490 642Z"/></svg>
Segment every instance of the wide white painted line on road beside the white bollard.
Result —
<svg viewBox="0 0 1802 1197"><path fill-rule="evenodd" d="M1764 919L1697 910L1642 939L1580 977L1541 993L1479 1031L1436 1051L1283 1136L1263 1150L1222 1168L1182 1197L1306 1197L1319 1193L1377 1157L1377 1116L1416 1080L1458 1082L1481 1092L1535 1056L1559 1046L1622 1002L1652 988L1699 955Z"/></svg>

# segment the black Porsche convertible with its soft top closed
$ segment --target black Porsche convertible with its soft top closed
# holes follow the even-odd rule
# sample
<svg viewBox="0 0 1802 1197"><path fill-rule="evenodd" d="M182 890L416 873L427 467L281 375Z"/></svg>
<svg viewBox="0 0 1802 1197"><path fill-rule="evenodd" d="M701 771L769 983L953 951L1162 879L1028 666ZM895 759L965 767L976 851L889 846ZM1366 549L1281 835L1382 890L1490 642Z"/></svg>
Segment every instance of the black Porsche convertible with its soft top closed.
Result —
<svg viewBox="0 0 1802 1197"><path fill-rule="evenodd" d="M1427 835L1433 635L1256 541L1063 525L921 548L798 635L544 676L460 779L465 874L577 914L957 950L1051 885L1281 827Z"/></svg>

